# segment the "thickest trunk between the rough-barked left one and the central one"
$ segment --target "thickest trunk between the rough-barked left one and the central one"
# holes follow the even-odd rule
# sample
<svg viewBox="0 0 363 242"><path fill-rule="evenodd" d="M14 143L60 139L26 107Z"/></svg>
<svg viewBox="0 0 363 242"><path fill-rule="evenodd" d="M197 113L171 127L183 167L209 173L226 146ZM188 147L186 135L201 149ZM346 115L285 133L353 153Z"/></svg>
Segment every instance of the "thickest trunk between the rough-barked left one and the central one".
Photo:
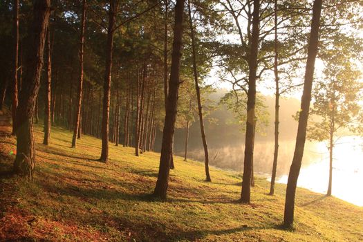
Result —
<svg viewBox="0 0 363 242"><path fill-rule="evenodd" d="M104 98L102 115L102 151L100 161L107 162L109 159L109 115L110 115L110 95L111 95L111 69L113 34L115 32L115 21L118 12L118 0L110 1L109 27L107 28L106 63L104 72Z"/></svg>

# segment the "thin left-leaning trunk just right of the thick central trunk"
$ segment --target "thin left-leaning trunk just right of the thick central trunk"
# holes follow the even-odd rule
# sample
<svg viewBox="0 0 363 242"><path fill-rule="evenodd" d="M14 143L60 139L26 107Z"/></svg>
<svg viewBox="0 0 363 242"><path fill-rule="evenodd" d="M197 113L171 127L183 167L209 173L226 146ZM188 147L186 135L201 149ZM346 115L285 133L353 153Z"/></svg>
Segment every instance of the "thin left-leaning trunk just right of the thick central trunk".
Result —
<svg viewBox="0 0 363 242"><path fill-rule="evenodd" d="M190 1L188 0L188 10L189 10L189 25L190 25L190 35L192 38L192 55L193 55L193 73L194 73L194 82L196 86L196 99L198 101L198 115L199 115L199 124L201 125L201 135L203 140L203 148L204 148L204 158L205 158L205 180L210 182L212 181L210 178L210 158L208 155L208 147L207 147L207 138L205 138L205 130L204 130L204 122L203 122L203 111L202 111L202 102L201 102L201 89L198 84L198 72L196 69L196 44L194 38L194 27L192 20L192 11L190 10Z"/></svg>

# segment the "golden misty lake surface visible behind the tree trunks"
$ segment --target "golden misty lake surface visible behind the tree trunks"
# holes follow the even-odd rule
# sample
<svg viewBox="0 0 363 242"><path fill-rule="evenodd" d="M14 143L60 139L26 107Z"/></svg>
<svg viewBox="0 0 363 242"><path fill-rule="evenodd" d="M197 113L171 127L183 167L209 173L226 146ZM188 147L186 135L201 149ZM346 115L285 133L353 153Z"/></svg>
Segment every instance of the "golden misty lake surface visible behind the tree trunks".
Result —
<svg viewBox="0 0 363 242"><path fill-rule="evenodd" d="M295 140L281 140L277 183L287 183ZM210 149L210 164L223 169L243 171L244 146ZM270 180L274 142L259 141L254 149L254 173ZM203 150L189 151L189 157L204 160ZM181 155L181 153L178 153ZM363 206L363 139L345 136L333 149L333 196ZM326 194L329 176L329 151L325 142L306 142L297 185Z"/></svg>

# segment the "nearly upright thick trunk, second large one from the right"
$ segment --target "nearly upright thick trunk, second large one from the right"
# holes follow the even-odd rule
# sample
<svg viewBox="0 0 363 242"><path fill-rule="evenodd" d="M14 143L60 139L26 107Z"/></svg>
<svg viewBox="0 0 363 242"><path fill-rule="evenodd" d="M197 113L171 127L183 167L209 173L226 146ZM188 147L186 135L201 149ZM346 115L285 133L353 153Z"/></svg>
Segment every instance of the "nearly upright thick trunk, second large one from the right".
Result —
<svg viewBox="0 0 363 242"><path fill-rule="evenodd" d="M254 125L256 106L256 79L257 79L257 55L259 53L259 9L260 1L253 1L252 39L250 59L248 60L249 77L247 93L247 122L245 131L245 160L243 162L243 180L241 191L241 203L250 203L251 176L254 149Z"/></svg>

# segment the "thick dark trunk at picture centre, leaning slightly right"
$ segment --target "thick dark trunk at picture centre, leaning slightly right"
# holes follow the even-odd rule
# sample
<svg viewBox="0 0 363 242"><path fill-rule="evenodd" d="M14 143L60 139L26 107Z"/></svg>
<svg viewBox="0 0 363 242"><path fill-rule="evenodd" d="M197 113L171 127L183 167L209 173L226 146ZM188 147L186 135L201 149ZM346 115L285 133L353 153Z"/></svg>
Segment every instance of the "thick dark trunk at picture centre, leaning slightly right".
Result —
<svg viewBox="0 0 363 242"><path fill-rule="evenodd" d="M174 137L174 125L176 120L176 106L178 101L180 57L183 40L183 15L185 0L177 0L175 6L175 24L173 53L171 54L171 72L169 80L169 93L167 99L167 111L165 113L164 129L162 131L162 145L158 180L153 195L167 198L167 187L170 171L170 160L172 156L172 145Z"/></svg>

